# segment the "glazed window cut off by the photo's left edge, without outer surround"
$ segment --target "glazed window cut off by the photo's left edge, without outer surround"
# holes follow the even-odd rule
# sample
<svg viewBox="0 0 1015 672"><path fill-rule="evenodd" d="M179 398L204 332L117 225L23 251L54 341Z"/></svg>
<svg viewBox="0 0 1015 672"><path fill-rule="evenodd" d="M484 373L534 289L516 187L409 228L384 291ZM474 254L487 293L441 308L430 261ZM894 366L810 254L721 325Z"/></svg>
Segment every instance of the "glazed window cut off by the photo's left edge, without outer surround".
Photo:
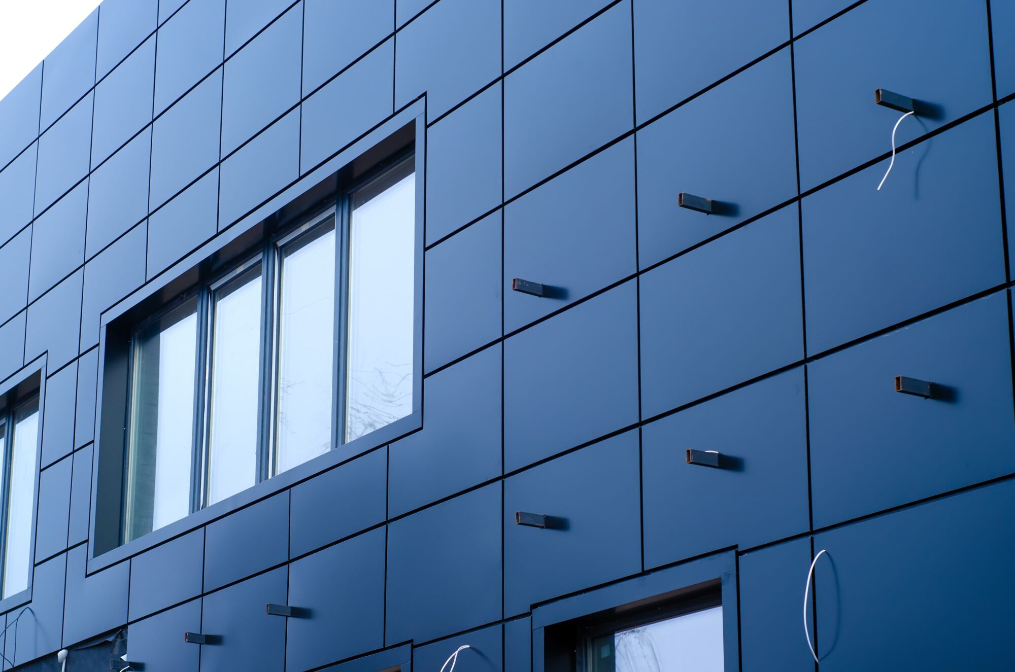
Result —
<svg viewBox="0 0 1015 672"><path fill-rule="evenodd" d="M3 455L0 541L3 544L2 597L28 587L31 572L31 520L36 501L36 454L39 443L39 397L0 412Z"/></svg>

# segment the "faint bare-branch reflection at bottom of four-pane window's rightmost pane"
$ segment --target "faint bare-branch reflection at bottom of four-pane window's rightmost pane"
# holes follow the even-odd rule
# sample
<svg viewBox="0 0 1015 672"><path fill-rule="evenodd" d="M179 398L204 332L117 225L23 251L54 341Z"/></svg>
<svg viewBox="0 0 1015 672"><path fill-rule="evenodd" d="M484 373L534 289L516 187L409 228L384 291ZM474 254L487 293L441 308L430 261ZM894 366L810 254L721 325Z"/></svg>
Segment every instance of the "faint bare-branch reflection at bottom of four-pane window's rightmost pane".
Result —
<svg viewBox="0 0 1015 672"><path fill-rule="evenodd" d="M349 372L348 440L405 417L412 402L412 362Z"/></svg>

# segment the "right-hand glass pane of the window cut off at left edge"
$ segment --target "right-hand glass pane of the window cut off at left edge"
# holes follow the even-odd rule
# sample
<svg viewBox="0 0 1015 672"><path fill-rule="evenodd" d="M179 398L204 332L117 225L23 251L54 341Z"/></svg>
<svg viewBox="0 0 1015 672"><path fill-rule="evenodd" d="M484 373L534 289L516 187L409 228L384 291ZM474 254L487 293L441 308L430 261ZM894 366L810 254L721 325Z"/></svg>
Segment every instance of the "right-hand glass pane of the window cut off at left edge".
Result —
<svg viewBox="0 0 1015 672"><path fill-rule="evenodd" d="M3 555L3 596L28 587L31 556L31 514L36 495L36 446L39 442L39 400L14 413L7 476L7 541Z"/></svg>

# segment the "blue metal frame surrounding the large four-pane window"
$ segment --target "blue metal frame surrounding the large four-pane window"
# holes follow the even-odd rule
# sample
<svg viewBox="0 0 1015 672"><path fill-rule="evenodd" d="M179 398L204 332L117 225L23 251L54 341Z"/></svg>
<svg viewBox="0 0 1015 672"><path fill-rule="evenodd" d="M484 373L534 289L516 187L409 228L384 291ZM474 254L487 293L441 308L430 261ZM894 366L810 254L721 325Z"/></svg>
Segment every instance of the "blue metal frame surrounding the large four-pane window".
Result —
<svg viewBox="0 0 1015 672"><path fill-rule="evenodd" d="M415 174L414 207L414 320L413 320L413 392L411 412L391 424L367 435L345 444L332 438L331 450L310 459L285 472L262 480L220 502L197 509L189 516L170 523L158 530L123 543L125 518L124 500L126 470L126 394L130 379L127 378L129 351L125 342L130 341L131 328L142 319L171 311L188 297L200 294L202 287L243 263L251 254L258 255L265 248L282 246L299 238L311 220L336 213L345 207L348 195L363 184L411 157ZM263 500L281 490L307 480L327 469L347 462L363 453L380 449L391 442L422 427L422 320L423 320L423 262L424 262L424 194L425 194L425 105L421 100L406 106L388 122L378 126L362 138L336 153L332 158L310 171L289 187L283 189L235 223L222 228L219 233L190 256L181 260L157 277L149 280L129 296L103 313L98 344L98 402L95 421L95 459L89 522L87 574L94 574L139 552L186 534L239 509ZM341 224L341 221L339 222ZM340 245L336 238L336 247ZM275 260L272 259L272 264ZM275 268L271 269L273 273ZM344 269L343 269L344 272ZM336 278L343 277L336 272ZM274 283L273 283L274 287ZM272 293L274 293L274 288ZM341 295L341 294L340 294ZM271 295L274 303L275 297ZM337 305L337 301L336 301ZM274 306L271 306L274 310ZM336 310L336 317L341 310ZM199 318L203 319L203 318ZM210 333L205 324L199 324L200 333ZM268 363L275 366L274 327L271 330L272 349L264 352ZM335 362L337 352L333 352ZM272 371L274 376L274 371ZM199 395L205 394L203 383ZM273 399L273 384L266 386L265 394ZM337 388L333 388L337 390ZM333 410L337 410L338 395L333 394ZM201 404L205 403L202 398ZM204 415L201 416L202 443L194 448L204 450ZM260 414L259 435L270 433L274 408L269 406ZM335 414L332 416L332 433L338 431ZM197 431L197 428L195 429ZM203 454L201 459L203 460ZM272 468L274 456L265 456L266 468ZM202 468L203 471L203 468Z"/></svg>

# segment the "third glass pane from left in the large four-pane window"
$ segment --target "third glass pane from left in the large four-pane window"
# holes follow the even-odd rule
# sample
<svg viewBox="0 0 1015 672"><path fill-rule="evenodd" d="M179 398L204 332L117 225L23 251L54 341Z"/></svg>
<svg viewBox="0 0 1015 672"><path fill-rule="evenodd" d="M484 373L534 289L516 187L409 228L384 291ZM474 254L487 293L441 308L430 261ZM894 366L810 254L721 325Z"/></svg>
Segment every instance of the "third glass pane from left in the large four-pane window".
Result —
<svg viewBox="0 0 1015 672"><path fill-rule="evenodd" d="M276 473L331 448L335 220L282 250Z"/></svg>

